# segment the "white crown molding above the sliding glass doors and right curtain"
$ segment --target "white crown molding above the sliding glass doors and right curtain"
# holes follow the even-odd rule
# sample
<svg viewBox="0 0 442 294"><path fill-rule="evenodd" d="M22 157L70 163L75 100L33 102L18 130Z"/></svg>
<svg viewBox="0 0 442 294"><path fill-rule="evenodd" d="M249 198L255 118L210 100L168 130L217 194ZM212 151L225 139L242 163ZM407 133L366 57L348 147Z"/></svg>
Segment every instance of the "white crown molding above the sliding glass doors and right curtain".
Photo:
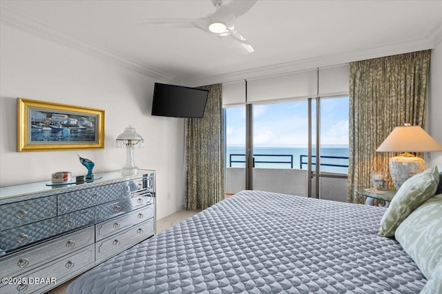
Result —
<svg viewBox="0 0 442 294"><path fill-rule="evenodd" d="M439 31L438 31L439 32ZM442 37L441 34L438 35ZM385 57L389 55L403 54L420 50L434 48L436 43L434 39L423 38L419 40L405 41L402 43L392 44L379 48L360 50L353 52L341 52L334 55L324 55L287 63L280 63L271 66L262 66L260 68L252 68L249 70L240 70L237 72L229 72L222 75L213 75L204 79L193 79L184 81L185 86L196 87L202 85L211 85L217 83L228 83L240 81L244 79L258 79L264 77L275 77L277 75L286 75L291 72L299 72L302 70L311 70L314 68L325 68L328 66L338 66L352 61Z"/></svg>

